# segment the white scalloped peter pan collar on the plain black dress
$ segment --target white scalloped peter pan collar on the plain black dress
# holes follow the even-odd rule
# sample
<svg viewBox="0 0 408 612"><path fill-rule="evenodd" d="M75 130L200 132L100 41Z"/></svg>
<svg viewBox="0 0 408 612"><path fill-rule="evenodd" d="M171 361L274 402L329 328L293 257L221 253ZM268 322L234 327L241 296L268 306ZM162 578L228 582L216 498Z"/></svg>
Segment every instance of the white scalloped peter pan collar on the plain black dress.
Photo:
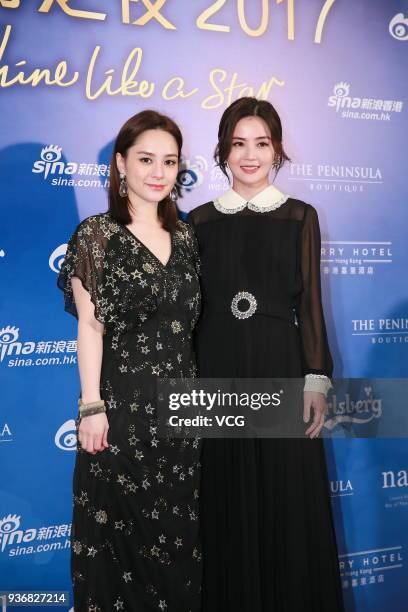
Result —
<svg viewBox="0 0 408 612"><path fill-rule="evenodd" d="M219 212L229 215L244 210L245 207L255 212L269 212L282 206L288 197L274 185L269 185L248 202L236 191L229 189L214 200L214 206Z"/></svg>

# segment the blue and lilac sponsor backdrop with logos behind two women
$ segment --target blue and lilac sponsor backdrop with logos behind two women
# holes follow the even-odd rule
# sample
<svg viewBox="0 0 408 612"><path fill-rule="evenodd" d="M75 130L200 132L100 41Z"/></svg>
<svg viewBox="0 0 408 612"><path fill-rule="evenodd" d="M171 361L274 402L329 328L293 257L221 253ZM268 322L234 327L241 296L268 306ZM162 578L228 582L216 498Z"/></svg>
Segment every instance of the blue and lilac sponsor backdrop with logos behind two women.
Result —
<svg viewBox="0 0 408 612"><path fill-rule="evenodd" d="M107 208L116 133L146 108L180 124L185 213L227 188L218 122L255 95L292 160L276 185L319 212L335 375L368 380L326 428L346 607L406 610L408 444L359 431L386 415L378 379L408 375L407 50L396 0L0 0L0 591L70 591L79 382L56 277Z"/></svg>

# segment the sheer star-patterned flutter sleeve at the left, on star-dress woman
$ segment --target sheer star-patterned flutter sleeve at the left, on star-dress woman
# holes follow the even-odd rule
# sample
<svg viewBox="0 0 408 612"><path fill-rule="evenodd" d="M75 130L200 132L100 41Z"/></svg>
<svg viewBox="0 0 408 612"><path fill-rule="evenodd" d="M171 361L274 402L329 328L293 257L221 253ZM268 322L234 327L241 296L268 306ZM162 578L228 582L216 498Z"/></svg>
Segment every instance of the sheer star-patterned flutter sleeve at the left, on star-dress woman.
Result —
<svg viewBox="0 0 408 612"><path fill-rule="evenodd" d="M78 318L71 279L73 276L79 278L95 307L95 318L103 324L109 314L108 300L104 295L106 242L98 216L82 221L68 242L57 280L58 287L64 292L65 310Z"/></svg>

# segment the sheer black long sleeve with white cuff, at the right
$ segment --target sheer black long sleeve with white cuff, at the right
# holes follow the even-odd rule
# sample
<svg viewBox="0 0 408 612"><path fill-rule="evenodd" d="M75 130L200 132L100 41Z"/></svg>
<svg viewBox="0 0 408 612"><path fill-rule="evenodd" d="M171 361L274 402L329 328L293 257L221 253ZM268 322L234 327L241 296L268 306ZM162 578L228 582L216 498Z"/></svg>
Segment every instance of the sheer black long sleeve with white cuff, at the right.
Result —
<svg viewBox="0 0 408 612"><path fill-rule="evenodd" d="M327 340L320 284L320 227L316 210L307 205L302 222L300 268L302 292L297 318L301 337L305 391L327 394L333 361Z"/></svg>

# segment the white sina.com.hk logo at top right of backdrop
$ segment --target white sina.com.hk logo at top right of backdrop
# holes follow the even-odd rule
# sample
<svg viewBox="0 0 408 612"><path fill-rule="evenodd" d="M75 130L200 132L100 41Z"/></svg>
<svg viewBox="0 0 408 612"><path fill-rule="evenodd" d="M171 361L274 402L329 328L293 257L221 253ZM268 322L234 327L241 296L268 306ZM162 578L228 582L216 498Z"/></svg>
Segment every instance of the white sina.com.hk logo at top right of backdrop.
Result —
<svg viewBox="0 0 408 612"><path fill-rule="evenodd" d="M391 121L394 114L401 113L403 109L402 100L355 97L350 90L350 83L336 83L327 102L327 106L333 108L342 119Z"/></svg>

